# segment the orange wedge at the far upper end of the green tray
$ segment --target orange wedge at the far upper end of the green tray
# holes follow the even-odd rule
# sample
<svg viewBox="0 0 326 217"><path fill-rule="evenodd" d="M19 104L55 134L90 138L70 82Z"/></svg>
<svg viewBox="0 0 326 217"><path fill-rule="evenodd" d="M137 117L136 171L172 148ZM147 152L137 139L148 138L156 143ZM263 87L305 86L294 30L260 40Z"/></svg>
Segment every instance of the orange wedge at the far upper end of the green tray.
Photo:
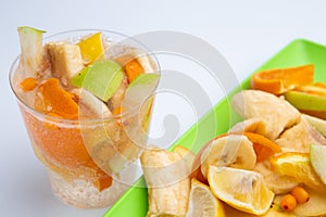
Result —
<svg viewBox="0 0 326 217"><path fill-rule="evenodd" d="M311 85L314 77L314 66L276 68L262 71L251 77L251 88L273 94L281 94L298 86Z"/></svg>

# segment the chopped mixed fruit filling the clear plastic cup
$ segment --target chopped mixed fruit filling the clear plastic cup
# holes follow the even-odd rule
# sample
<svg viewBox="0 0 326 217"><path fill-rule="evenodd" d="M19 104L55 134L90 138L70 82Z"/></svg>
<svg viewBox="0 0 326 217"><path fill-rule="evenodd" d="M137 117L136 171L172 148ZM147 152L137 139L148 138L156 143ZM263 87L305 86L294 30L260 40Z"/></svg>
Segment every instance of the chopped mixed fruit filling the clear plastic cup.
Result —
<svg viewBox="0 0 326 217"><path fill-rule="evenodd" d="M21 56L11 77L35 153L66 181L102 192L146 145L158 64L101 31L58 41L43 34L18 27ZM112 202L103 197L103 205Z"/></svg>

